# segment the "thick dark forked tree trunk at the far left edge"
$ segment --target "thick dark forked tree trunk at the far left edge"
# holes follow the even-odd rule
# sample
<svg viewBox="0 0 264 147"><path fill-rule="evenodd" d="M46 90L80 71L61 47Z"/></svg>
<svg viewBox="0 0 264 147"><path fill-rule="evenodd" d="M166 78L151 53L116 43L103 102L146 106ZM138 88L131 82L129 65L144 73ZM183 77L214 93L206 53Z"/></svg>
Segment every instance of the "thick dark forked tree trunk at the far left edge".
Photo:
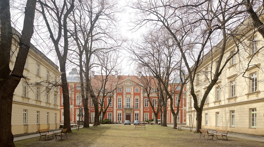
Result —
<svg viewBox="0 0 264 147"><path fill-rule="evenodd" d="M21 35L11 26L10 1L0 2L0 146L15 146L11 132L11 112L13 93L23 76L24 65L30 49L30 39L33 34L36 0L28 0L25 7L25 17ZM10 55L13 39L18 42L19 50L13 70L10 69Z"/></svg>

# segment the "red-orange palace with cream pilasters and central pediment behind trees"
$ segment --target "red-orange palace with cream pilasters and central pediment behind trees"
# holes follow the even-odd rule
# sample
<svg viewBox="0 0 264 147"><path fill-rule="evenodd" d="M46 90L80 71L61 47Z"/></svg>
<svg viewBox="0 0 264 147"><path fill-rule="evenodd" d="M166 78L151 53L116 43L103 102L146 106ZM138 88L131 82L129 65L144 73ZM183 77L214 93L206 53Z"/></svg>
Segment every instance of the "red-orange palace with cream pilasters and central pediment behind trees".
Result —
<svg viewBox="0 0 264 147"><path fill-rule="evenodd" d="M114 96L111 99L109 108L105 114L104 119L110 119L114 122L122 123L125 120L134 120L145 121L154 119L154 113L152 107L149 104L147 99L147 93L143 90L143 87L139 86L140 80L138 76L119 76L111 75L108 77L110 81L114 81L117 85ZM94 75L92 72L91 82L93 83L93 89L95 95L98 95L98 80L101 79L101 75ZM67 81L69 84L69 94L70 94L70 119L71 121L79 120L78 113L79 107L82 106L80 88L79 88L79 75L76 68L73 68L72 71L67 76ZM100 84L99 84L100 85ZM109 86L109 85L108 85ZM185 88L186 90L186 88ZM61 90L61 117L60 120L63 121L63 101L62 101L62 90ZM100 102L101 97L98 97L98 102ZM174 96L174 100L177 99ZM109 96L105 98L105 104L109 102ZM150 100L153 103L155 111L157 110L157 95L155 92L150 93ZM175 101L174 101L175 103ZM100 105L99 105L100 106ZM95 119L95 109L94 104L89 100L88 104L89 113L90 113L90 122L93 122ZM173 108L176 112L177 106L173 104ZM99 107L100 109L100 107ZM102 115L100 115L102 119ZM158 113L158 119L160 119L160 113ZM171 110L169 109L169 100L167 107L167 123L173 123L173 116ZM178 124L186 124L186 99L181 100L180 112L177 117Z"/></svg>

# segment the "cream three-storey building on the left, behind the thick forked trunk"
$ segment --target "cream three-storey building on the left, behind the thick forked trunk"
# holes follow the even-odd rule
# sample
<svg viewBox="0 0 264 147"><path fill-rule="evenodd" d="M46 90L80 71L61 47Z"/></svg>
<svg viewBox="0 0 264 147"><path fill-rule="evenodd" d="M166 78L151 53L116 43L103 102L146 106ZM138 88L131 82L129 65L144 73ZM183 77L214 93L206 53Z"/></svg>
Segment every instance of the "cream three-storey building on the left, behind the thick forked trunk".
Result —
<svg viewBox="0 0 264 147"><path fill-rule="evenodd" d="M15 34L20 35L13 30ZM18 38L13 36L10 68L13 69L18 52ZM30 45L21 79L13 94L12 134L37 132L39 129L59 128L59 67ZM57 86L53 86L57 85Z"/></svg>

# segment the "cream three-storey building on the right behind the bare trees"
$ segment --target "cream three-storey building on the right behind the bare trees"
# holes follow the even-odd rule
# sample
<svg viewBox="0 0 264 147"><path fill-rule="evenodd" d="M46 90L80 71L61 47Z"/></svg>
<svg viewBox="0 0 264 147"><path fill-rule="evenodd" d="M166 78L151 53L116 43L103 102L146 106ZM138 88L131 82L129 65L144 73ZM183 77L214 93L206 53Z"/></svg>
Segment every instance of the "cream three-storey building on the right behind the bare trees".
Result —
<svg viewBox="0 0 264 147"><path fill-rule="evenodd" d="M246 37L240 38L242 42L235 43L231 40L227 43L223 62L238 50L236 44L239 52L225 66L217 84L207 97L202 111L202 129L249 134L264 132L264 51L261 49L264 40L256 33L252 24L246 24L246 21L244 23L237 28L240 33L246 34ZM195 81L197 97L204 95L206 86L214 74L220 54L218 47L213 48L213 56L209 55L210 53L205 55L197 70L199 71ZM259 49L261 50L258 52ZM187 126L190 126L191 121L188 120L192 118L196 128L194 103L190 93L187 93L187 96Z"/></svg>

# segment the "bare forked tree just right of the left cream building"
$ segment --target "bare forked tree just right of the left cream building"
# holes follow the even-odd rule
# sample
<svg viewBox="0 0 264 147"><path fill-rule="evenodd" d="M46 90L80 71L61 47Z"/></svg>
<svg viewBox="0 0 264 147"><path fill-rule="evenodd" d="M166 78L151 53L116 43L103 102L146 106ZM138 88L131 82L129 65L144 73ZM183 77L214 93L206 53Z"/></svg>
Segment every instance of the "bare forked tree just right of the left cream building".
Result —
<svg viewBox="0 0 264 147"><path fill-rule="evenodd" d="M69 90L66 79L66 61L68 55L68 30L67 19L69 14L73 11L74 0L66 1L62 3L56 3L56 1L38 1L40 8L37 9L44 18L46 27L50 34L50 39L53 42L54 49L56 51L62 81L63 92L63 110L64 110L64 129L67 128L67 132L71 132L70 128L70 100ZM63 43L62 43L63 42Z"/></svg>

